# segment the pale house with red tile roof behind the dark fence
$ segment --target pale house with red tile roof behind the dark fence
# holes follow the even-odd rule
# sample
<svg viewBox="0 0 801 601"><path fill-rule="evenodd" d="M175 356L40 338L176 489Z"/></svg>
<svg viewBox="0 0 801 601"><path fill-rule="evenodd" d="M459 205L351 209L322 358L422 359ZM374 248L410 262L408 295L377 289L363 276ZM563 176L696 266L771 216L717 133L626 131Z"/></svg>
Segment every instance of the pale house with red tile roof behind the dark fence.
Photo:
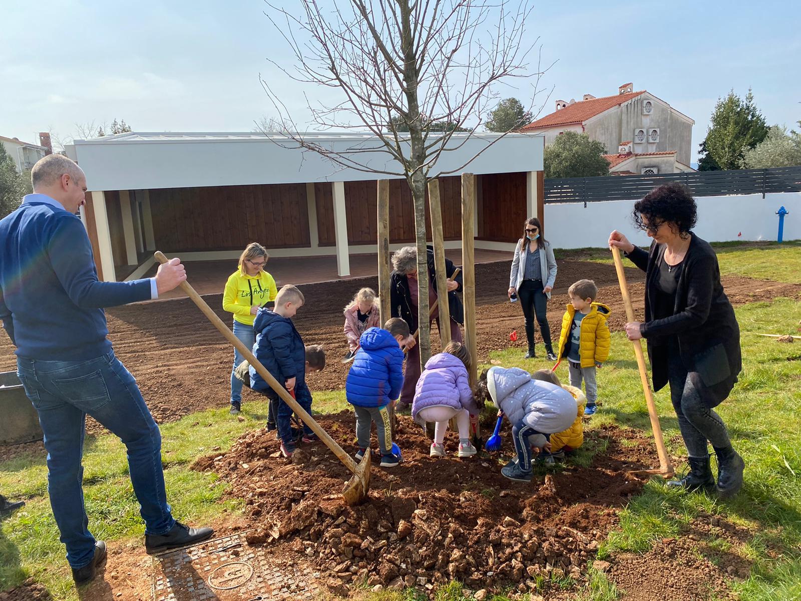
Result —
<svg viewBox="0 0 801 601"><path fill-rule="evenodd" d="M529 123L522 131L544 134L546 145L566 131L586 133L606 147L608 160L617 157L614 164L610 160L613 172L675 173L693 171L690 152L694 123L649 91L634 91L633 83L624 83L616 95L596 98L585 94L579 101L557 100L556 111ZM617 155L613 154L615 150Z"/></svg>

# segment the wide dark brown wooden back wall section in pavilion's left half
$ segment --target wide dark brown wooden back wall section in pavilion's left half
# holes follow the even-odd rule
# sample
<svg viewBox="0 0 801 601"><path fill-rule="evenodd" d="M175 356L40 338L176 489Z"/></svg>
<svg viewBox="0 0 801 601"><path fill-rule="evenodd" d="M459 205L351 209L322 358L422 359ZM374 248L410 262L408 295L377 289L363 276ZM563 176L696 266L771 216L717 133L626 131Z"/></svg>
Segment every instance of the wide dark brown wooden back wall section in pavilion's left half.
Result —
<svg viewBox="0 0 801 601"><path fill-rule="evenodd" d="M150 198L155 243L163 251L310 244L305 184L171 188L151 190Z"/></svg>

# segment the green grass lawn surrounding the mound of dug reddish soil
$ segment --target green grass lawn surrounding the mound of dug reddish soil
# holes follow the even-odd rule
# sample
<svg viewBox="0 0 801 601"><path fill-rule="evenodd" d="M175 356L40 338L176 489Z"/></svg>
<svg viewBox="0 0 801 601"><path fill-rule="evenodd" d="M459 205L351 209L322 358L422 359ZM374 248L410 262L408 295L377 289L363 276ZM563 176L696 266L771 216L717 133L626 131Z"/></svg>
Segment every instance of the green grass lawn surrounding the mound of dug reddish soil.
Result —
<svg viewBox="0 0 801 601"><path fill-rule="evenodd" d="M779 279L795 274L798 278L801 253L799 244L794 244L766 244L764 248L727 245L718 248L718 254L722 268L728 264L739 275ZM763 255L770 258L763 260ZM747 462L743 492L731 502L719 502L703 493L670 492L654 480L622 512L620 528L603 543L599 555L646 551L654 541L676 534L699 511L722 514L754 531L747 543L729 550L754 562L749 579L732 583L741 599L801 599L801 420L796 413L801 406L801 346L752 335L795 332L801 320L801 303L797 298L777 299L743 305L736 312L743 330L744 370L735 391L718 410ZM610 361L598 373L602 407L590 428L613 423L650 432L632 346L621 333L614 333L612 349ZM492 353L490 359L506 367L549 367L545 362L532 365L524 361L520 349ZM561 367L558 375L566 381L566 367ZM666 390L657 393L656 399L669 450L682 456L686 451ZM329 413L347 404L344 393L336 391L315 393L314 406L316 413ZM215 447L219 451L229 449L244 431L262 427L266 415L266 402L250 401L244 405L243 422L224 408L194 413L162 426L167 491L176 516L199 524L222 522L241 514L240 501L222 500L226 485L215 474L195 472L188 466L195 458L216 452ZM586 459L591 452L586 451ZM143 524L127 475L123 445L110 435L87 438L84 466L84 492L93 532L108 541L141 540ZM19 457L0 463L0 491L27 502L24 509L0 522L0 591L31 577L45 584L55 599L78 599L50 513L43 458ZM714 546L712 543L710 546ZM721 547L725 543L718 542ZM776 559L770 559L767 550ZM422 599L414 591L380 595L360 591L358 595L369 601ZM605 575L590 571L589 583L577 601L610 601L618 596ZM461 585L444 587L437 599L463 599ZM506 598L490 595L489 599Z"/></svg>

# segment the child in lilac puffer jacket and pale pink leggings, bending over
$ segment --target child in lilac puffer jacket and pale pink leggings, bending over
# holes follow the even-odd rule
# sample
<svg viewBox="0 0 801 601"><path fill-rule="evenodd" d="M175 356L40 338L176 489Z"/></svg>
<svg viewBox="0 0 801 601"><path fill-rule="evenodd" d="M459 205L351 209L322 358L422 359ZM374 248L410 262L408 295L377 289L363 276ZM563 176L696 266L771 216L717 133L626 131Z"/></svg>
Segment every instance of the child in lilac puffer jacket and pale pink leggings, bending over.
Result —
<svg viewBox="0 0 801 601"><path fill-rule="evenodd" d="M451 342L445 351L434 355L425 364L425 372L417 381L412 417L425 427L425 422L435 422L434 442L431 457L445 455L445 432L448 422L456 417L459 430L459 457L470 457L477 453L470 444L470 422L478 420L479 406L470 389L468 369L470 353L461 342Z"/></svg>

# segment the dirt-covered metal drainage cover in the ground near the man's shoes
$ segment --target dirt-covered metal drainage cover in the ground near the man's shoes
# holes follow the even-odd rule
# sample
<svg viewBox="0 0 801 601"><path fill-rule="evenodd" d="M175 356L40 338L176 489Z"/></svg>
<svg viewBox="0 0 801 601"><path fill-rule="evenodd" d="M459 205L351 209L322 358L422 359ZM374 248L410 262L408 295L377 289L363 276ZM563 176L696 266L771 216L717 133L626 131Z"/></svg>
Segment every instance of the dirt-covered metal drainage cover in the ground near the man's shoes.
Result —
<svg viewBox="0 0 801 601"><path fill-rule="evenodd" d="M244 532L153 559L154 601L312 599L320 592L311 568L269 547L251 547Z"/></svg>

